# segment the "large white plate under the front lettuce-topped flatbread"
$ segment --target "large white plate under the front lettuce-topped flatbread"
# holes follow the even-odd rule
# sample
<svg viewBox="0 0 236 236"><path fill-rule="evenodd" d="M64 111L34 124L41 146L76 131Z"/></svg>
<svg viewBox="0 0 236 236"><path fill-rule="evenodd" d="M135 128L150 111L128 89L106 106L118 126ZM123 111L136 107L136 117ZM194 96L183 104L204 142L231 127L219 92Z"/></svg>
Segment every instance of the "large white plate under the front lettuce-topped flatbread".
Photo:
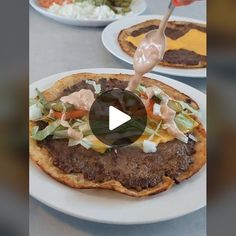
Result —
<svg viewBox="0 0 236 236"><path fill-rule="evenodd" d="M80 72L126 73L122 69L86 69L49 76L30 85L30 96L35 88L44 90L67 75ZM178 81L155 74L152 79L191 96L201 108L201 119L206 121L206 96L202 92ZM30 194L44 204L66 214L90 221L112 224L144 224L173 219L196 211L206 205L206 167L196 175L170 190L143 199L133 198L108 190L76 190L45 174L30 162Z"/></svg>

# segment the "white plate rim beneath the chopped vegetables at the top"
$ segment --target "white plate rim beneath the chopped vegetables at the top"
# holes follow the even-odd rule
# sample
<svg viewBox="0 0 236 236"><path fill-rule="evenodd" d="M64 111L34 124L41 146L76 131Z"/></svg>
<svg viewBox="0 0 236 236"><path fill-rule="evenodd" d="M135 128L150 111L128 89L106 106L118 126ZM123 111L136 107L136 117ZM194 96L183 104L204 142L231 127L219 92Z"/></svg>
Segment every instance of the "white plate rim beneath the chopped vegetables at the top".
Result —
<svg viewBox="0 0 236 236"><path fill-rule="evenodd" d="M122 19L124 18L127 20L127 17L138 16L138 15L142 14L147 7L145 0L135 0L131 4L132 13L128 13L126 16L122 16L120 18L111 18L111 19L107 19L107 20L78 20L78 19L71 19L68 17L59 16L57 14L51 13L51 12L47 11L45 8L39 6L37 0L29 0L29 2L30 2L30 5L36 11L38 11L42 15L47 16L53 20L56 20L56 21L63 23L63 24L75 25L75 26L87 26L87 27L106 26L106 25L110 24L111 22L118 20L120 18L122 18Z"/></svg>

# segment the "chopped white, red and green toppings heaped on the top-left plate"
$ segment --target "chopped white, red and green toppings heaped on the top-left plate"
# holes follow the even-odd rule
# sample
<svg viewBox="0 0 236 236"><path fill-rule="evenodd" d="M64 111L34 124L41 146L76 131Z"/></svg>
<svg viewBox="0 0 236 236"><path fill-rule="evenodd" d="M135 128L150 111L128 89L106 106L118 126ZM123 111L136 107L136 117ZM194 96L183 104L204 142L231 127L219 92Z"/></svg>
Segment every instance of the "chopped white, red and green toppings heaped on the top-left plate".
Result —
<svg viewBox="0 0 236 236"><path fill-rule="evenodd" d="M98 20L117 18L131 12L131 3L132 0L39 0L40 6L57 15Z"/></svg>

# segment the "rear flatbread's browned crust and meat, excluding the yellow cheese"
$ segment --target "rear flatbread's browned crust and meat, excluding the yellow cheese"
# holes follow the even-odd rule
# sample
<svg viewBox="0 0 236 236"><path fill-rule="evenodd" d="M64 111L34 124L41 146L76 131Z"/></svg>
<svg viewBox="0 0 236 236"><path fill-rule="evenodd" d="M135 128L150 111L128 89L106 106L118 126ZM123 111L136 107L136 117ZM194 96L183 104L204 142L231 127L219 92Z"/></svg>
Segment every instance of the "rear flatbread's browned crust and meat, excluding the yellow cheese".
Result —
<svg viewBox="0 0 236 236"><path fill-rule="evenodd" d="M129 56L133 57L136 46L127 41L129 36L139 36L151 30L158 29L160 20L148 20L130 28L123 29L118 36L118 42L121 49ZM170 21L167 24L166 36L176 40L185 35L189 30L196 29L201 32L206 32L206 27L203 24L188 23L184 21ZM167 50L163 60L159 63L162 66L177 67L177 68L203 68L206 67L206 56L199 55L194 51L186 49Z"/></svg>

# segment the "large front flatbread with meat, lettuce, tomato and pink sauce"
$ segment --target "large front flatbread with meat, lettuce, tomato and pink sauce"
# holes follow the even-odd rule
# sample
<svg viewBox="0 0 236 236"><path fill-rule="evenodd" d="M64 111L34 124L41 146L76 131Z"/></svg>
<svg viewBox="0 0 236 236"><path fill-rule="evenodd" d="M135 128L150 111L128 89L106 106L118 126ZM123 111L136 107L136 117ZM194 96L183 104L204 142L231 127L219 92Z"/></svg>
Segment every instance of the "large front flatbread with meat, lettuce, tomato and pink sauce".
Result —
<svg viewBox="0 0 236 236"><path fill-rule="evenodd" d="M134 93L147 126L133 144L107 146L91 132L96 97L126 89L131 75L79 73L30 100L30 157L56 180L79 189L110 189L143 197L190 178L206 162L206 133L199 107L187 95L143 77Z"/></svg>

